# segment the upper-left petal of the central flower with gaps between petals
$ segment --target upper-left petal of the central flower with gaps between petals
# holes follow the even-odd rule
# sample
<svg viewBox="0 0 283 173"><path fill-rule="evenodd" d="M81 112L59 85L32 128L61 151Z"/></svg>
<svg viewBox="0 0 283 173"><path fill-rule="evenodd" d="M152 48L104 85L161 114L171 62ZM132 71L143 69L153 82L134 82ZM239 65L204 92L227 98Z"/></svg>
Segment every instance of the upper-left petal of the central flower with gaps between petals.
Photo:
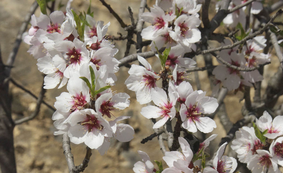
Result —
<svg viewBox="0 0 283 173"><path fill-rule="evenodd" d="M152 88L150 91L150 97L156 106L164 106L167 103L166 92L159 87Z"/></svg>

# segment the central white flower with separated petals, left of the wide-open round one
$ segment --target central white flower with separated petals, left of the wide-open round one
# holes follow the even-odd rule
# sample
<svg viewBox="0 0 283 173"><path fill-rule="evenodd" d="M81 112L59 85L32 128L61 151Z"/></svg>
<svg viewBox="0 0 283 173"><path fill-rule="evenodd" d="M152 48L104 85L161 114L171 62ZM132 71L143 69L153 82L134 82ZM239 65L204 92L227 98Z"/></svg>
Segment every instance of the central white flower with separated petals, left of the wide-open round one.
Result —
<svg viewBox="0 0 283 173"><path fill-rule="evenodd" d="M172 120L176 115L174 106L177 100L177 93L174 93L173 89L169 87L169 101L166 92L162 88L155 87L151 89L150 95L156 106L149 105L141 108L141 115L147 119L161 117L162 119L157 121L153 126L153 128L160 128L169 118Z"/></svg>

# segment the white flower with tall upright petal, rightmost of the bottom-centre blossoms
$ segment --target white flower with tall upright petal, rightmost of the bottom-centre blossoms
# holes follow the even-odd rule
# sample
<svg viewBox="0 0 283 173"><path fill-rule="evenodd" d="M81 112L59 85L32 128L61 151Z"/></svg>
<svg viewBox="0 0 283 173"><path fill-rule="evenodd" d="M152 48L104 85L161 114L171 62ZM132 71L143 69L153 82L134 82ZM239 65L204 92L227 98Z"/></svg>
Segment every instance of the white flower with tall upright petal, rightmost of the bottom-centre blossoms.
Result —
<svg viewBox="0 0 283 173"><path fill-rule="evenodd" d="M222 156L225 150L227 142L222 144L216 152L216 156L213 159L213 167L206 167L203 170L203 173L232 173L237 167L237 160L233 157Z"/></svg>

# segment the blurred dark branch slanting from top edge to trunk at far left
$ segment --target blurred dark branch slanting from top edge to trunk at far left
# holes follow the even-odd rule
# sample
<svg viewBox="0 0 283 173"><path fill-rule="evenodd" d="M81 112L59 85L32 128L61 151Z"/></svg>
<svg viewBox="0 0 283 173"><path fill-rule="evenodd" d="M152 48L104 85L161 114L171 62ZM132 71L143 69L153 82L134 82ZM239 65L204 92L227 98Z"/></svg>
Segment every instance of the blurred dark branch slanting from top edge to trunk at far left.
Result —
<svg viewBox="0 0 283 173"><path fill-rule="evenodd" d="M15 58L16 58L16 55L17 55L17 52L19 50L19 47L20 47L20 44L22 42L22 35L23 35L23 32L25 32L25 30L27 29L27 25L29 24L29 20L31 19L31 15L33 15L33 13L35 12L35 10L37 9L38 7L38 4L37 4L37 1L35 1L32 5L31 5L31 8L29 10L29 12L27 13L27 15L25 16L25 20L23 21L21 27L20 27L20 30L16 36L16 40L14 42L14 45L13 45L13 49L12 51L10 52L9 54L9 57L8 57L8 60L6 62L6 65L7 67L10 66L12 67L14 61L15 61ZM5 73L6 73L6 76L10 76L10 71L11 71L11 68L7 68Z"/></svg>

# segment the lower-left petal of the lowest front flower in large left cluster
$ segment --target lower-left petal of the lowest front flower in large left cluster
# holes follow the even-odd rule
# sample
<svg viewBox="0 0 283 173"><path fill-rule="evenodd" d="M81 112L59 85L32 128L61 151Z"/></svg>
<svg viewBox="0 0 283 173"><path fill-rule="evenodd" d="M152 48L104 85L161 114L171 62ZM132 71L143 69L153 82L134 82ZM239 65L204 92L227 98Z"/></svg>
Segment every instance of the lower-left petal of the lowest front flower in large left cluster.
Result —
<svg viewBox="0 0 283 173"><path fill-rule="evenodd" d="M82 129L83 126L77 124L75 126L71 126L68 131L68 136L70 137L70 141L74 144L80 144L85 141L86 132Z"/></svg>

